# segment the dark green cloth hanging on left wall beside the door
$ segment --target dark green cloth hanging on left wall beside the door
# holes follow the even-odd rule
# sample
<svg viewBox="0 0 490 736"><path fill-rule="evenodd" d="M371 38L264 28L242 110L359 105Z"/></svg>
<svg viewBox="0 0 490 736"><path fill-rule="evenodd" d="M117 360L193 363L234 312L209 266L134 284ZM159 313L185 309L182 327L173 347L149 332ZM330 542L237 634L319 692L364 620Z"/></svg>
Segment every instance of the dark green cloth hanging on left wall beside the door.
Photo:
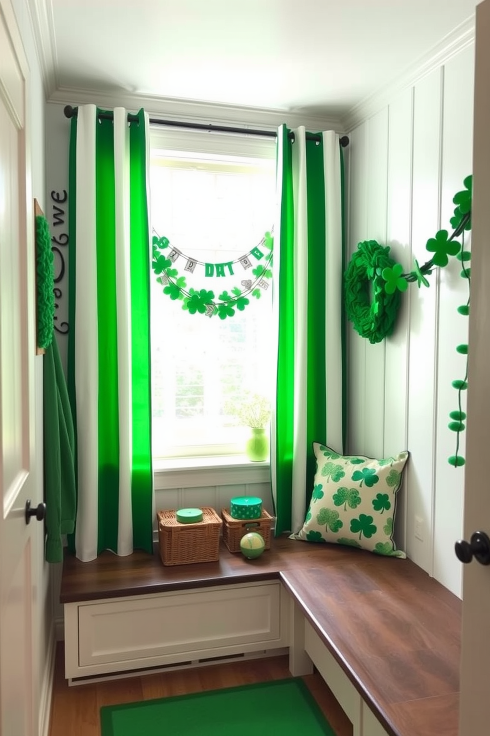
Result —
<svg viewBox="0 0 490 736"><path fill-rule="evenodd" d="M62 534L75 526L75 435L56 339L46 348L43 378L46 562L62 562Z"/></svg>

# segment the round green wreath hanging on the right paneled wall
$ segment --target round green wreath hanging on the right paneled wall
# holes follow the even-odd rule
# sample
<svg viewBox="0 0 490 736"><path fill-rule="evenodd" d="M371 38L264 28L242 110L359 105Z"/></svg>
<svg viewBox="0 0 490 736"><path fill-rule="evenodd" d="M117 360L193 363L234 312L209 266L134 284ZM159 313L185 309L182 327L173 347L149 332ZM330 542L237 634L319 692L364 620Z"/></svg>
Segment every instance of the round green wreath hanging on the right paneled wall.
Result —
<svg viewBox="0 0 490 736"><path fill-rule="evenodd" d="M344 277L347 318L373 344L392 334L400 308L399 281L407 288L400 278L402 267L388 254L389 246L383 248L375 240L359 243Z"/></svg>

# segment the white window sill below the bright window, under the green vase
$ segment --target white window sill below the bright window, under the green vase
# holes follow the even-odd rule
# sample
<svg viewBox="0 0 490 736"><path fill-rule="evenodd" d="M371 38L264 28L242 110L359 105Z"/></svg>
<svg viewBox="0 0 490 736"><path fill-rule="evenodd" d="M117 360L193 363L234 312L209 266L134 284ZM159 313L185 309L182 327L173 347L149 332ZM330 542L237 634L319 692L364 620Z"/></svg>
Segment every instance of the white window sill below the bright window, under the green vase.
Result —
<svg viewBox="0 0 490 736"><path fill-rule="evenodd" d="M270 463L251 462L243 455L156 459L155 490L269 483Z"/></svg>

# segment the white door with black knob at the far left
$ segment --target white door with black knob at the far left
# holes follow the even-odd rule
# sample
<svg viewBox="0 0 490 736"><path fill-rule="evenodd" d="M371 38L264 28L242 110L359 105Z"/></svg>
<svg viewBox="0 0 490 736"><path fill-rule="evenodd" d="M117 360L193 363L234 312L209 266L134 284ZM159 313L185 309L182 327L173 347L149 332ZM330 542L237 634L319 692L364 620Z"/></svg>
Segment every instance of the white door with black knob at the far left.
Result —
<svg viewBox="0 0 490 736"><path fill-rule="evenodd" d="M33 736L32 528L35 285L26 151L27 63L0 0L0 734ZM29 199L29 201L28 201Z"/></svg>

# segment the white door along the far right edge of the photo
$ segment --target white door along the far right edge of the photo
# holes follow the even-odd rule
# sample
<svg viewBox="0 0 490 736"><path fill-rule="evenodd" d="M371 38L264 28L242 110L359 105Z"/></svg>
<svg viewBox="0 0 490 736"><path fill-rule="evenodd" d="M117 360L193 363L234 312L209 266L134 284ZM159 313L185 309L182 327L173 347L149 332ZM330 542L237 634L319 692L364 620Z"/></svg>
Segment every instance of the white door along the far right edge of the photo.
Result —
<svg viewBox="0 0 490 736"><path fill-rule="evenodd" d="M463 114L463 113L462 113ZM476 14L464 535L490 536L490 0ZM490 729L490 565L464 565L460 736Z"/></svg>

